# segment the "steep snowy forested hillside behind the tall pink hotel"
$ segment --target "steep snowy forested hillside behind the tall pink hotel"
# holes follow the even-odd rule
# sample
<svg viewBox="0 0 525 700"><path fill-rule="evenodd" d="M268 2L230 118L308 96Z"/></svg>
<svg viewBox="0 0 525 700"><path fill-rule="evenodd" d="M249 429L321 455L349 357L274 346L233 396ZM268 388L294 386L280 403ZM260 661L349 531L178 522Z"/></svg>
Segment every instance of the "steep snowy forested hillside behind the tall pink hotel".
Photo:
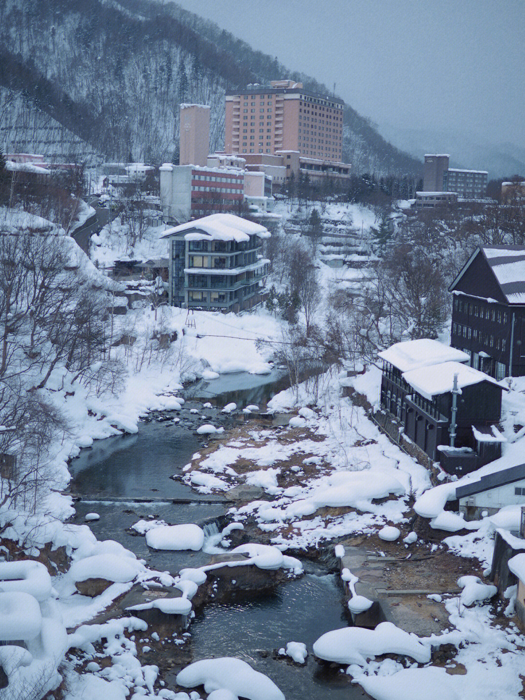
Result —
<svg viewBox="0 0 525 700"><path fill-rule="evenodd" d="M162 162L176 157L180 102L210 105L215 149L226 89L289 77L329 92L175 3L5 0L0 32L0 141L9 151ZM419 174L417 160L350 106L345 124L354 172Z"/></svg>

